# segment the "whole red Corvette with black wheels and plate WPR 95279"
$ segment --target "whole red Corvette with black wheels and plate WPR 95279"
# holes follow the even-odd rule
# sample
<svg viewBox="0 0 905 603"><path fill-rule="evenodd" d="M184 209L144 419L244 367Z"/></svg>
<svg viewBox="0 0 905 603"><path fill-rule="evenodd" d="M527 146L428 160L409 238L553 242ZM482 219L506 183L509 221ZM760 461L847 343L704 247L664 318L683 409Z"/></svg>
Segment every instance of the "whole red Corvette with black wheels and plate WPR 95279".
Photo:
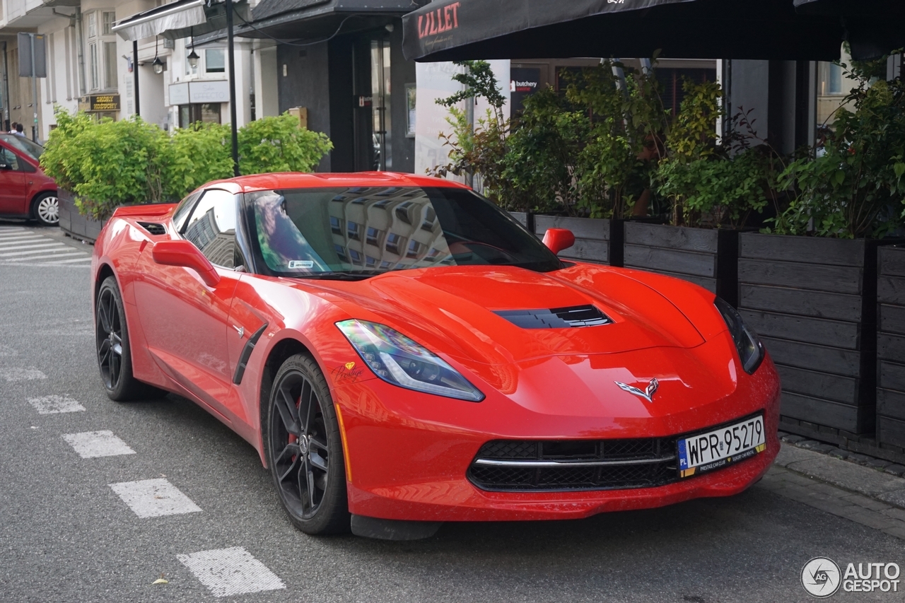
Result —
<svg viewBox="0 0 905 603"><path fill-rule="evenodd" d="M194 400L302 531L416 538L744 491L779 378L741 316L654 273L560 260L467 187L403 174L212 182L94 245L100 376Z"/></svg>

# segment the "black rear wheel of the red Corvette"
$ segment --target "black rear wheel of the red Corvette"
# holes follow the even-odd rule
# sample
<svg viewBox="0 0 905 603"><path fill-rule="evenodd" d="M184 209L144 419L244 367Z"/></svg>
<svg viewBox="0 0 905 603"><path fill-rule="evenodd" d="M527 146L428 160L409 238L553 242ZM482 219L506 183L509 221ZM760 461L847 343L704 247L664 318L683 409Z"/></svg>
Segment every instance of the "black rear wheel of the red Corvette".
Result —
<svg viewBox="0 0 905 603"><path fill-rule="evenodd" d="M117 402L165 396L167 392L146 385L132 376L129 327L115 277L108 276L100 283L94 307L100 382L107 391L107 396Z"/></svg>

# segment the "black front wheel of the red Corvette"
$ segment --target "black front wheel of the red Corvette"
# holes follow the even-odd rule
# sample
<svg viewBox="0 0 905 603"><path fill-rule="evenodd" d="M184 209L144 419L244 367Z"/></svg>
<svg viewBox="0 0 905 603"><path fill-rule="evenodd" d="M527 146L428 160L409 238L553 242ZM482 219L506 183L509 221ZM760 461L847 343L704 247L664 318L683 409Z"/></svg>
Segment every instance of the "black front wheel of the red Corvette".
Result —
<svg viewBox="0 0 905 603"><path fill-rule="evenodd" d="M327 379L310 356L296 354L277 371L262 432L273 484L293 525L307 534L348 532L336 410Z"/></svg>

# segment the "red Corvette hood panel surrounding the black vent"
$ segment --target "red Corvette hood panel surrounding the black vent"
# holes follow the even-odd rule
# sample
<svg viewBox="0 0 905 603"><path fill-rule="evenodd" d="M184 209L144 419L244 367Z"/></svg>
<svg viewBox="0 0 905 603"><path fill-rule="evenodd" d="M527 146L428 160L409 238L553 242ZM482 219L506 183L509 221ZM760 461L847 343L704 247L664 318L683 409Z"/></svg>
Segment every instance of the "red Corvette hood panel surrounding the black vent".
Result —
<svg viewBox="0 0 905 603"><path fill-rule="evenodd" d="M334 302L353 318L383 322L434 352L469 365L689 349L704 342L691 321L661 293L605 267L578 265L536 273L510 266L438 266L361 282L319 284L338 295ZM611 322L526 329L496 313L588 305Z"/></svg>

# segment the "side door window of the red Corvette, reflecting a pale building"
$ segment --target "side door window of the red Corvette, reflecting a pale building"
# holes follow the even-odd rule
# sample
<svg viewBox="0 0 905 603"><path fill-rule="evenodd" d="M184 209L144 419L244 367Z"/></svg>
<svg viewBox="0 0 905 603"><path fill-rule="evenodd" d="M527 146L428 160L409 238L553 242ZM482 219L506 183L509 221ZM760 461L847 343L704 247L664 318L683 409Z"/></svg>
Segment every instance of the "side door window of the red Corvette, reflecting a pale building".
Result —
<svg viewBox="0 0 905 603"><path fill-rule="evenodd" d="M233 268L236 198L224 190L208 190L192 211L185 237L211 263Z"/></svg>

